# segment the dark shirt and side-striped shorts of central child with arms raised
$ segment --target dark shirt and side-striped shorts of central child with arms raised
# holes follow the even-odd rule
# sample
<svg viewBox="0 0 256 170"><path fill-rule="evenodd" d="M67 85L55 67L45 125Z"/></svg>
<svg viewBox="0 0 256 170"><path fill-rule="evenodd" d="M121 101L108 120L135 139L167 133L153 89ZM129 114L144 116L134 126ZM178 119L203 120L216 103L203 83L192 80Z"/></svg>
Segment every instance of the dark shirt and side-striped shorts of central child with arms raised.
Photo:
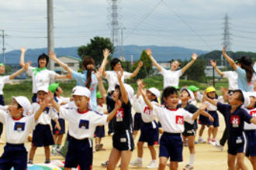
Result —
<svg viewBox="0 0 256 170"><path fill-rule="evenodd" d="M111 111L115 108L116 102L111 97L106 97L106 104L109 105ZM114 122L114 134L112 136L112 145L119 151L130 150L133 151L134 143L132 131L132 115L131 105L128 100L127 104L122 104L122 107L116 112L113 117Z"/></svg>

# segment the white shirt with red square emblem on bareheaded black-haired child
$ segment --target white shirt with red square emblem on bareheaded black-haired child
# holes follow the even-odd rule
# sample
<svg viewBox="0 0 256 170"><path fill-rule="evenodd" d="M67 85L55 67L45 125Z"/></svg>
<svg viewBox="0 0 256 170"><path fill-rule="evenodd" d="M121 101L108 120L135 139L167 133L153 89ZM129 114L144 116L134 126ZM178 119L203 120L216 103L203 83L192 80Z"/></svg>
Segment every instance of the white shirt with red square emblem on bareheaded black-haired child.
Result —
<svg viewBox="0 0 256 170"><path fill-rule="evenodd" d="M168 133L182 133L184 131L184 121L194 124L193 114L182 108L168 109L153 105L153 111L150 116L157 117L162 125L162 129Z"/></svg>

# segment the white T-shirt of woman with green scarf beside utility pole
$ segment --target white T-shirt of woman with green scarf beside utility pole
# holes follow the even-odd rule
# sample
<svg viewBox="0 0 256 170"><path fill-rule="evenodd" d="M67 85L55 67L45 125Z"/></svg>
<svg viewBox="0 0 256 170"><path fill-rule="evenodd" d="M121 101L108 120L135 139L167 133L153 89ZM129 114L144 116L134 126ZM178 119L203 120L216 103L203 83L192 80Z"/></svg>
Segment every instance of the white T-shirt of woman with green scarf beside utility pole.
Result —
<svg viewBox="0 0 256 170"><path fill-rule="evenodd" d="M36 72L36 67L29 66L27 71L32 76L33 93L37 93L38 87L49 87L50 80L54 80L56 73L51 70L41 70Z"/></svg>

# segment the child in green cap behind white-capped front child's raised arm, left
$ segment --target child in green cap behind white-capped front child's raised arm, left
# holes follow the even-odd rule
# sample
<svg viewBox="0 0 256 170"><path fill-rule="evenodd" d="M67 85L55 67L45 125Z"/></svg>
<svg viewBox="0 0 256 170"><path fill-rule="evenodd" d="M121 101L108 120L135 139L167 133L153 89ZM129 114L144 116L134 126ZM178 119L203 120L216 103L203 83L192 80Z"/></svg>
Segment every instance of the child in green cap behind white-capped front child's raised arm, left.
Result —
<svg viewBox="0 0 256 170"><path fill-rule="evenodd" d="M63 92L61 87L59 86L59 83L51 83L48 87L48 90L50 90L51 93L54 93L54 100L57 101L57 104L64 105L67 104L69 101L69 98L61 97L61 93ZM59 116L59 114L58 114ZM61 130L55 128L56 123L55 121L51 120L51 127L53 128L53 134L54 134L54 145L51 149L51 154L56 155L56 149L60 149L61 142L63 135L65 134L65 120L58 117L58 121L61 125Z"/></svg>

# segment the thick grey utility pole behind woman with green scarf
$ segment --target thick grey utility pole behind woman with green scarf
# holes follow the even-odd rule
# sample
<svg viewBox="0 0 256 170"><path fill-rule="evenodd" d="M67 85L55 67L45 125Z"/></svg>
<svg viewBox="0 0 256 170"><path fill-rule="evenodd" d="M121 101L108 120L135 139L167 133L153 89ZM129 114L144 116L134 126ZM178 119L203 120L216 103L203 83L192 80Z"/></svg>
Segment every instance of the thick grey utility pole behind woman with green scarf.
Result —
<svg viewBox="0 0 256 170"><path fill-rule="evenodd" d="M54 52L54 2L47 0L47 47ZM54 61L49 60L48 68L54 70Z"/></svg>

